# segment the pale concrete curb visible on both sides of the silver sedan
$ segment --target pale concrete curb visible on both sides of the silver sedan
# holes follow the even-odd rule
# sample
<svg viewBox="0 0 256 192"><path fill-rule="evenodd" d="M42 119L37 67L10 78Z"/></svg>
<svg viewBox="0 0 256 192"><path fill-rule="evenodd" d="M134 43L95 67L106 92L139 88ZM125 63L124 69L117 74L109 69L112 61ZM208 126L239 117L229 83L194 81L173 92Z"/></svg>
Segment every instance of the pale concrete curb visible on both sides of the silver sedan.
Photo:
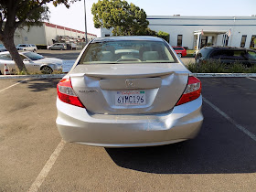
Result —
<svg viewBox="0 0 256 192"><path fill-rule="evenodd" d="M0 80L7 79L61 79L66 74L48 75L0 75ZM192 73L197 78L256 78L256 73Z"/></svg>

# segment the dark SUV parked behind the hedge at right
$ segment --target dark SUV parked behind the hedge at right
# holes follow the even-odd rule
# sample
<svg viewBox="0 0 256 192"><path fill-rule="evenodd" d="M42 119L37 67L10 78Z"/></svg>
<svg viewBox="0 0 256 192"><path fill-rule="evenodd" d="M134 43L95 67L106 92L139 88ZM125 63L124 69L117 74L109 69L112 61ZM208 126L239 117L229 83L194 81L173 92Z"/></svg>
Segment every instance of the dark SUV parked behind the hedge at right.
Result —
<svg viewBox="0 0 256 192"><path fill-rule="evenodd" d="M197 63L216 59L228 65L239 62L251 67L256 64L256 51L250 48L205 47L197 53L195 59Z"/></svg>

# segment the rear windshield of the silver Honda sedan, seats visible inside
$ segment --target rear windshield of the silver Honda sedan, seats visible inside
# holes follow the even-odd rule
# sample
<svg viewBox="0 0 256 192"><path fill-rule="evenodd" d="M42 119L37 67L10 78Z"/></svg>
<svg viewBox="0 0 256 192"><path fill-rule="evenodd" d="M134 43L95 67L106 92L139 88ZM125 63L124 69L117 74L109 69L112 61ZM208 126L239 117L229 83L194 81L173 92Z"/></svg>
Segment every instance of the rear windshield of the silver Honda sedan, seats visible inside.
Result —
<svg viewBox="0 0 256 192"><path fill-rule="evenodd" d="M80 64L175 62L170 48L158 41L108 41L91 43Z"/></svg>

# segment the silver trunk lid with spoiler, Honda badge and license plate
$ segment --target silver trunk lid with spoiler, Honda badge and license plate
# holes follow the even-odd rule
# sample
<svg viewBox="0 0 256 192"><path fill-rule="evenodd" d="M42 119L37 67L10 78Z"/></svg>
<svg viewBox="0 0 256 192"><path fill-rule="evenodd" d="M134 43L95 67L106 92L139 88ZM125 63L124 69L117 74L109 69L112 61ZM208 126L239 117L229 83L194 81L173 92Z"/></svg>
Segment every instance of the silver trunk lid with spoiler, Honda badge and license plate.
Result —
<svg viewBox="0 0 256 192"><path fill-rule="evenodd" d="M134 114L172 110L190 72L180 63L78 65L74 91L89 112Z"/></svg>

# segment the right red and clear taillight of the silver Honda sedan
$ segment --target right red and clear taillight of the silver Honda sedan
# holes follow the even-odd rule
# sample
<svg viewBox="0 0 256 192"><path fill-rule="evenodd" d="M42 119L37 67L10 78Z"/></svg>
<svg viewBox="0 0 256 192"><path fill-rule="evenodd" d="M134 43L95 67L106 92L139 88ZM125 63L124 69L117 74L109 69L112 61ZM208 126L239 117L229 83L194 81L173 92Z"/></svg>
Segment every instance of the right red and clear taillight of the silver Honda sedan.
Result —
<svg viewBox="0 0 256 192"><path fill-rule="evenodd" d="M201 90L201 81L193 76L188 77L187 88L184 91L181 98L179 99L179 101L176 103L176 106L184 104L189 101L196 100L200 96Z"/></svg>

